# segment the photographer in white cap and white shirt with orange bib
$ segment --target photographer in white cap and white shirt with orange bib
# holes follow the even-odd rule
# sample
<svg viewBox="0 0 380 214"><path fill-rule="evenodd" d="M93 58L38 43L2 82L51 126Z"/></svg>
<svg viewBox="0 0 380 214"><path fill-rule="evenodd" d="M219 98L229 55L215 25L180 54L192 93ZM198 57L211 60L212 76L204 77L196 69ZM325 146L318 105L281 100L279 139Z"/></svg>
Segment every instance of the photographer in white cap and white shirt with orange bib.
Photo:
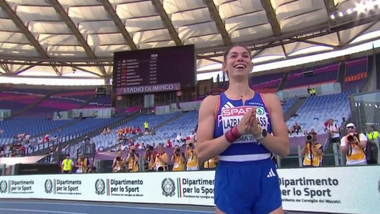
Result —
<svg viewBox="0 0 380 214"><path fill-rule="evenodd" d="M346 125L347 135L340 140L340 150L346 153L347 165L366 165L367 137L363 133L357 133L355 124Z"/></svg>

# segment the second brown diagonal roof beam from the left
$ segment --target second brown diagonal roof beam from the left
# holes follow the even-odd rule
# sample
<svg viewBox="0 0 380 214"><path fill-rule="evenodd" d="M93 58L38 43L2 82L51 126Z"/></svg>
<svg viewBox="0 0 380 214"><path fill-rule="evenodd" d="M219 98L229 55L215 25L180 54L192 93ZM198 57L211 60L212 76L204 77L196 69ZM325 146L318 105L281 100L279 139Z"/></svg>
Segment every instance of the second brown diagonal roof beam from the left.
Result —
<svg viewBox="0 0 380 214"><path fill-rule="evenodd" d="M65 22L65 24L67 25L67 27L71 30L71 32L74 34L74 36L76 37L76 39L78 40L79 44L84 48L84 50L86 51L87 55L91 58L91 59L96 59L96 56L95 54L93 53L93 51L91 50L89 44L87 43L87 41L83 38L81 32L79 32L78 28L75 26L74 22L70 19L70 17L68 16L68 14L66 13L66 11L63 9L62 5L60 5L60 3L58 2L58 0L48 0L49 3L53 6L54 10L57 12L57 14L60 16L60 18L62 19L62 21ZM100 69L100 72L106 76L106 70L104 69L103 66L99 67ZM78 69L79 70L79 69Z"/></svg>

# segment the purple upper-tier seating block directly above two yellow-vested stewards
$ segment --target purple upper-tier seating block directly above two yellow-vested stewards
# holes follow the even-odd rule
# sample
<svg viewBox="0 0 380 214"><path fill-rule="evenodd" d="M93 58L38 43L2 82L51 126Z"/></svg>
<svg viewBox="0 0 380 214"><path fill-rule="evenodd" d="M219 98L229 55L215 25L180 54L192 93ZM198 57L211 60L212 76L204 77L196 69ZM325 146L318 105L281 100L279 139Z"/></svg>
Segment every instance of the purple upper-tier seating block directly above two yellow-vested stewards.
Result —
<svg viewBox="0 0 380 214"><path fill-rule="evenodd" d="M290 72L285 83L285 89L335 82L337 80L339 64L333 63L313 67L310 70L313 70L314 74L310 77L304 77L303 72L306 70L309 69L301 69Z"/></svg>

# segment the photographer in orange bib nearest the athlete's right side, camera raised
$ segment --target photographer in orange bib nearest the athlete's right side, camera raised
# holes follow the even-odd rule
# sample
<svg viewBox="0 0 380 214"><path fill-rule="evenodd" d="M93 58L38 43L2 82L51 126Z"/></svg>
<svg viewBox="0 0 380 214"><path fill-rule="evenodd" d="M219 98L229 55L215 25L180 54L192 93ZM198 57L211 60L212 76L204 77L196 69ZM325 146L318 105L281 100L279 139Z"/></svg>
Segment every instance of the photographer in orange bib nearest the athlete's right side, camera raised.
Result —
<svg viewBox="0 0 380 214"><path fill-rule="evenodd" d="M301 155L304 155L303 166L321 166L323 146L315 142L315 137L312 133L307 134L305 138L305 145L301 150Z"/></svg>

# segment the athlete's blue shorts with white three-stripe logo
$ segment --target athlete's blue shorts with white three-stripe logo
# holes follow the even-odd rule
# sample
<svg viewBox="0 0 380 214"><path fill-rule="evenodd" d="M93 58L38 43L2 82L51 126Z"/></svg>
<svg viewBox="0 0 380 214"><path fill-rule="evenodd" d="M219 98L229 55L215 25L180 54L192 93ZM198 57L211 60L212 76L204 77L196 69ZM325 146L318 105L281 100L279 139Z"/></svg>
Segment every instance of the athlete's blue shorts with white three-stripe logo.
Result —
<svg viewBox="0 0 380 214"><path fill-rule="evenodd" d="M281 190L273 161L220 161L215 171L214 203L226 214L268 214L279 208Z"/></svg>

